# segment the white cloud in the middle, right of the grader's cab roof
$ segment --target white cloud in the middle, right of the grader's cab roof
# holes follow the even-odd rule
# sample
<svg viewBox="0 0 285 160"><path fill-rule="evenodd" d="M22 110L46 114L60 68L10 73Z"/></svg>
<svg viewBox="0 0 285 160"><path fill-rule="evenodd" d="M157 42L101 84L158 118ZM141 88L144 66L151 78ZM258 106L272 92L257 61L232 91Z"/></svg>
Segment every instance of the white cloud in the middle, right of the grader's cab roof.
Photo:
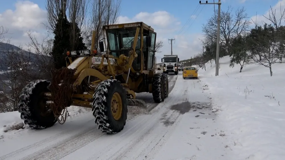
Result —
<svg viewBox="0 0 285 160"><path fill-rule="evenodd" d="M193 57L195 54L202 51L202 44L199 40L199 38L202 38L202 34L184 34L177 36L176 33L182 27L180 25L181 22L166 11L157 11L154 13L141 12L134 17L119 17L119 23L141 21L154 28L154 31L157 33L156 39L163 41L164 46L161 49L162 52L156 54L157 63L160 62L160 59L164 54L171 54L171 45L168 40L171 38L175 38L175 44L174 42L172 44L172 52L173 54L177 54L180 60L190 59L191 56Z"/></svg>

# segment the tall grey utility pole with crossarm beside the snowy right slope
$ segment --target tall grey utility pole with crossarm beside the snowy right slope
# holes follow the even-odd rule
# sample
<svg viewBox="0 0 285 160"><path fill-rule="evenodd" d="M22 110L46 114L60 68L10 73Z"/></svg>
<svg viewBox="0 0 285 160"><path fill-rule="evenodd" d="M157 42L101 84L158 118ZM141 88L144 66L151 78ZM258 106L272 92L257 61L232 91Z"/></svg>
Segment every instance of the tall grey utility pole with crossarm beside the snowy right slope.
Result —
<svg viewBox="0 0 285 160"><path fill-rule="evenodd" d="M218 27L217 27L217 53L216 53L216 75L219 75L219 52L220 52L220 15L221 15L221 0L219 0L218 3L208 3L208 1L206 1L206 3L201 3L201 1L199 2L200 5L218 5Z"/></svg>

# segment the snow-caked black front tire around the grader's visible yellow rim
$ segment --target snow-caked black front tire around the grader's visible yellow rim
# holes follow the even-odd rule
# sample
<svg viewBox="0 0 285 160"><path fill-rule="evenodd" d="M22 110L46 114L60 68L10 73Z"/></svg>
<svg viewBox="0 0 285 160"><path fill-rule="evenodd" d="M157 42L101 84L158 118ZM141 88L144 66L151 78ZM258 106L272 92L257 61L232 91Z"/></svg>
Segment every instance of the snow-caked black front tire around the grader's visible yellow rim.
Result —
<svg viewBox="0 0 285 160"><path fill-rule="evenodd" d="M111 111L113 94L118 92L122 100L122 115L115 120ZM93 95L92 111L97 128L105 134L121 132L127 120L127 94L121 83L116 79L107 79L98 84Z"/></svg>

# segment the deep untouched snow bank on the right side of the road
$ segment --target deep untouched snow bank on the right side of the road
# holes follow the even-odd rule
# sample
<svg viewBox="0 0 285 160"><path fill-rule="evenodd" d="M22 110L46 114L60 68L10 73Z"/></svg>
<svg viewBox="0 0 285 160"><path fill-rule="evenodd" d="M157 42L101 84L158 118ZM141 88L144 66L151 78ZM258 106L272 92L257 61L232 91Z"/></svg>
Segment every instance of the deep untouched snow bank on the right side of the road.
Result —
<svg viewBox="0 0 285 160"><path fill-rule="evenodd" d="M213 112L227 126L228 146L238 159L285 159L285 64L269 68L247 65L229 67L229 56L220 58L219 76L215 63L199 69L205 91L212 95Z"/></svg>

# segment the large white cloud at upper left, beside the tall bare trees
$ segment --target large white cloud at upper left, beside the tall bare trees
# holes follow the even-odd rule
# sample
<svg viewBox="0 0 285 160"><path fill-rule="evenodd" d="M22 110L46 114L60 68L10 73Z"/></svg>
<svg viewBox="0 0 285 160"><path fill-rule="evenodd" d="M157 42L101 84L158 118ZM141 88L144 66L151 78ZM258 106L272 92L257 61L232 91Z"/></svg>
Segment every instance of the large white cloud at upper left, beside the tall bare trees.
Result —
<svg viewBox="0 0 285 160"><path fill-rule="evenodd" d="M46 10L30 1L17 1L15 10L7 9L0 13L0 25L9 29L6 40L11 38L11 44L22 44L23 47L30 41L27 31L39 39L44 37L46 28L41 23L46 21Z"/></svg>

